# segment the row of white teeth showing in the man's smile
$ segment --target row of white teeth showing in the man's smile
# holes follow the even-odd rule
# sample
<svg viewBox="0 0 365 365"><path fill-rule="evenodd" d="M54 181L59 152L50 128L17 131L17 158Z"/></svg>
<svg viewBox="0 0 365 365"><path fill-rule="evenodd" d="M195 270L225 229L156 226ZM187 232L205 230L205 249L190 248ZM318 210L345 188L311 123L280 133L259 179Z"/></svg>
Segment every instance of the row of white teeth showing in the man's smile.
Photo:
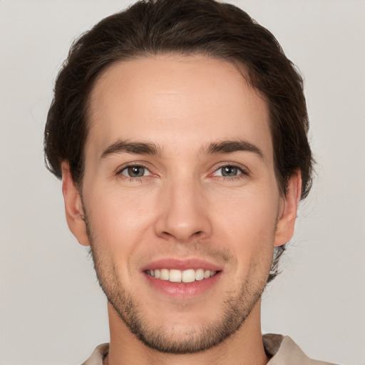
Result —
<svg viewBox="0 0 365 365"><path fill-rule="evenodd" d="M195 280L208 279L217 274L215 271L204 269L187 269L184 271L176 269L155 269L146 270L145 273L151 277L155 277L155 279L169 282L195 282Z"/></svg>

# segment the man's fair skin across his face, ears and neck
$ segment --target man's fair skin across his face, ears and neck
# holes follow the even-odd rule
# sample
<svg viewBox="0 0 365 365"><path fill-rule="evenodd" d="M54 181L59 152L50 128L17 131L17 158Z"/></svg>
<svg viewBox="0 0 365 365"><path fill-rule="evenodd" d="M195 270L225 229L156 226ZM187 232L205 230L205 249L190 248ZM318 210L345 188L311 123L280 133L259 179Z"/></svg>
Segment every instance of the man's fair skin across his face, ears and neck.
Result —
<svg viewBox="0 0 365 365"><path fill-rule="evenodd" d="M301 179L295 173L287 194L280 194L262 96L231 63L150 56L103 73L91 93L89 119L82 199L66 161L63 195L68 226L81 245L91 245L109 299L106 362L266 364L260 294L274 246L293 235ZM153 143L156 153L110 148L120 140ZM238 140L254 149L209 149ZM128 176L130 164L144 167L144 175ZM222 167L237 170L222 176ZM169 296L151 286L142 269L170 258L202 259L220 274L202 294ZM144 329L178 343L199 344L207 329L225 322L227 302L238 314L232 334L215 346L168 354L130 331L125 298Z"/></svg>

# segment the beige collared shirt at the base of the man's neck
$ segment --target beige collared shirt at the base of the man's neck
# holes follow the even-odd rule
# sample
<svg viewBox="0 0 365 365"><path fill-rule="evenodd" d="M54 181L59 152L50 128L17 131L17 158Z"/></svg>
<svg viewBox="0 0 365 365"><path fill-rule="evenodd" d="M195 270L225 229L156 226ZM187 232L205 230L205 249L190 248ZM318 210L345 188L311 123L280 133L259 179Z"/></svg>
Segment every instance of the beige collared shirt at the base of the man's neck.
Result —
<svg viewBox="0 0 365 365"><path fill-rule="evenodd" d="M267 365L334 365L309 359L289 336L264 334L262 341L267 354L272 356ZM108 350L109 344L99 345L82 365L103 365L103 358L108 354Z"/></svg>

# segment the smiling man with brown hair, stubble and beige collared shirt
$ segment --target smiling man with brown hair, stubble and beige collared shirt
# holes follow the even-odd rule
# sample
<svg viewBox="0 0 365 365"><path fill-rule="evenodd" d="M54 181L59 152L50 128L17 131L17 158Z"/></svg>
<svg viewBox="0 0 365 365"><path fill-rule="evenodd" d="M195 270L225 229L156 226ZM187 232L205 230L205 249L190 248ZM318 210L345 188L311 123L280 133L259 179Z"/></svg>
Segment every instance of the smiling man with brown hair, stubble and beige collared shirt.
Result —
<svg viewBox="0 0 365 365"><path fill-rule="evenodd" d="M302 78L235 6L141 1L73 45L45 151L108 298L110 345L85 364L328 364L260 329L307 130Z"/></svg>

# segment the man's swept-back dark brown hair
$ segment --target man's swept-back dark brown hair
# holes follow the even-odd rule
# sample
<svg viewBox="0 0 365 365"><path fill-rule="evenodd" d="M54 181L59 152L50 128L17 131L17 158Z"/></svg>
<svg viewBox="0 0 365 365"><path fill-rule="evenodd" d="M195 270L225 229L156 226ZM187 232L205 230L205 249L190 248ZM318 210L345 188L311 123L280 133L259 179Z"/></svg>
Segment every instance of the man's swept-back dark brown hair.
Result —
<svg viewBox="0 0 365 365"><path fill-rule="evenodd" d="M313 158L302 77L267 29L237 6L215 0L138 1L73 43L56 80L44 135L52 173L61 178L67 160L81 185L88 100L101 73L117 61L159 53L200 54L244 66L269 108L279 189L285 194L289 178L300 170L302 198L307 196Z"/></svg>

